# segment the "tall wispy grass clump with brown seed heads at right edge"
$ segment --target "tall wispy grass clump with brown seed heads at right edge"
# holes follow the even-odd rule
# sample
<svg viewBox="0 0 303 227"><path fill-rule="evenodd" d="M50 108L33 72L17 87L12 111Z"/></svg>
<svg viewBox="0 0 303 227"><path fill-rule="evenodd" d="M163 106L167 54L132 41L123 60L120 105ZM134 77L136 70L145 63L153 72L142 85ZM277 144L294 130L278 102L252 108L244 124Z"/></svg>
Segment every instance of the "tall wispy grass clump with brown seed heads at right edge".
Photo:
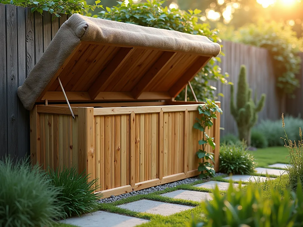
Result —
<svg viewBox="0 0 303 227"><path fill-rule="evenodd" d="M285 142L285 147L287 147L290 158L289 164L286 167L286 173L289 177L289 186L295 190L298 186L298 179L303 182L303 140L301 127L299 128L300 140L294 142L290 140L285 131L284 114L282 113L282 127L284 129L285 138L282 138Z"/></svg>

